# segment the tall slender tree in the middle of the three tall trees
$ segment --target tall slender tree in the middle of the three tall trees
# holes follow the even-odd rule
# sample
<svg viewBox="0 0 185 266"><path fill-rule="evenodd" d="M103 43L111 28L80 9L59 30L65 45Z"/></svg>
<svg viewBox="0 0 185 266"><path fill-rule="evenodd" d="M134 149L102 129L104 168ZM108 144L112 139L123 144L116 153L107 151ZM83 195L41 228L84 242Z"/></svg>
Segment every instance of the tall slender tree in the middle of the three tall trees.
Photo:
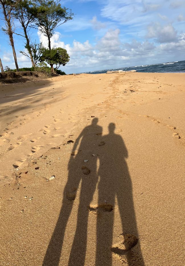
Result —
<svg viewBox="0 0 185 266"><path fill-rule="evenodd" d="M32 54L32 49L30 46L30 27L34 21L36 14L36 9L32 5L32 2L29 0L23 0L19 1L18 5L15 7L15 12L14 12L14 17L17 19L20 24L21 28L23 30L22 33L16 33L17 35L20 35L25 38L26 40L26 49L28 50L29 56L25 53L22 52L22 54L28 56L31 59L32 66L35 67L35 63L33 60L33 54Z"/></svg>

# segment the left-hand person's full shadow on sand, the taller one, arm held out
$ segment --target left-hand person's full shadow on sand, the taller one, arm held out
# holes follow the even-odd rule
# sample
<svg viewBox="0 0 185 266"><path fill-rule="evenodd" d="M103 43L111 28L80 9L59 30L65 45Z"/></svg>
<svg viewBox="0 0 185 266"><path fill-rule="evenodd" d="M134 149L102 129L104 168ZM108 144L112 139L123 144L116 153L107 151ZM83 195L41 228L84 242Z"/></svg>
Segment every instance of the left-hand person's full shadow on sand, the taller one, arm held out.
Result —
<svg viewBox="0 0 185 266"><path fill-rule="evenodd" d="M71 155L68 164L68 180L64 188L61 212L44 257L43 266L59 265L65 229L81 181L77 227L68 265L84 265L85 263L89 215L87 205L92 201L98 180L96 171L98 157L92 156L92 154L96 153L97 137L102 134L102 127L97 123L98 119L94 118L92 124L83 129L74 143L74 153L72 153L74 156ZM84 162L89 158L92 158L91 164L88 161Z"/></svg>

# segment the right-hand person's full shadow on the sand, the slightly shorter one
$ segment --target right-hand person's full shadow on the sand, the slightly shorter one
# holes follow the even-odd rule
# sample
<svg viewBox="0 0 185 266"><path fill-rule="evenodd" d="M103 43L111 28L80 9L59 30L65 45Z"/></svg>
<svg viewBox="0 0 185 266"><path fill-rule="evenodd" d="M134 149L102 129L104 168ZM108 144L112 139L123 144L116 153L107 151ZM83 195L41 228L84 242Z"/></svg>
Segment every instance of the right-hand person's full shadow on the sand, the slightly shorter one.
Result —
<svg viewBox="0 0 185 266"><path fill-rule="evenodd" d="M102 137L104 145L99 154L98 212L96 224L96 266L111 266L116 253L127 265L143 266L132 196L132 183L125 158L128 151L122 137L114 133L115 124L109 124L109 134ZM118 243L113 242L114 213L119 209L122 232ZM116 221L117 222L117 221Z"/></svg>

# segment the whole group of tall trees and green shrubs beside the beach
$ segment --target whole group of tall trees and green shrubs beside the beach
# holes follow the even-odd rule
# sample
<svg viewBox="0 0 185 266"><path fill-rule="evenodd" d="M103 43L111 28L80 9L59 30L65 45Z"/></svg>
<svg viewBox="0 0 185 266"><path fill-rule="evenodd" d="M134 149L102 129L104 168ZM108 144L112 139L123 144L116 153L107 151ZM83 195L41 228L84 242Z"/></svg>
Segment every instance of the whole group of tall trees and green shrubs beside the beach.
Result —
<svg viewBox="0 0 185 266"><path fill-rule="evenodd" d="M20 69L14 46L14 34L24 38L25 49L19 52L30 58L32 68L29 69L32 69L31 71L48 72L49 69L53 74L59 73L58 68L69 62L69 55L61 47L52 47L51 38L58 26L73 19L74 13L71 9L62 7L59 0L0 0L0 8L1 17L4 20L2 31L9 38L16 71L18 72ZM32 39L33 29L47 37L48 47L44 47L42 42L37 43ZM50 68L47 64L50 65ZM4 72L1 59L0 67L1 72Z"/></svg>

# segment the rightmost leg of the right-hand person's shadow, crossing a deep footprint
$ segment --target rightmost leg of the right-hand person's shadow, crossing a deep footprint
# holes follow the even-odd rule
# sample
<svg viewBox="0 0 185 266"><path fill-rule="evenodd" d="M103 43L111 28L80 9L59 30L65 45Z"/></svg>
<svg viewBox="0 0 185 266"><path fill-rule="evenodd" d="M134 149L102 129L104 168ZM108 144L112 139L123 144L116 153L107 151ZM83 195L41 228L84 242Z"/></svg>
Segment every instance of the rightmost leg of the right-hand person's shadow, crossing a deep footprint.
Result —
<svg viewBox="0 0 185 266"><path fill-rule="evenodd" d="M137 232L131 180L128 173L124 175L124 186L118 191L117 199L123 232L120 234L120 243L113 247L112 251L118 254L122 261L126 261L129 266L144 266Z"/></svg>

